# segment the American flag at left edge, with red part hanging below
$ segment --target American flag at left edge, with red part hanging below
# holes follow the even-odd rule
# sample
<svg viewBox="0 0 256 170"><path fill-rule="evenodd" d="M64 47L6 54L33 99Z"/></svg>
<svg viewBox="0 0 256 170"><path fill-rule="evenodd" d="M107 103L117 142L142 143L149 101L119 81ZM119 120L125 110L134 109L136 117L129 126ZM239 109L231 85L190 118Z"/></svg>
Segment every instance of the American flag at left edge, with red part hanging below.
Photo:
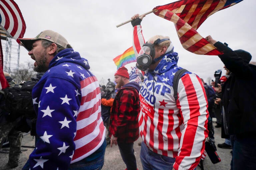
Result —
<svg viewBox="0 0 256 170"><path fill-rule="evenodd" d="M18 5L13 0L0 0L0 27L7 31L18 43L18 38L24 36L26 24ZM0 89L9 86L3 74L3 50L0 41Z"/></svg>

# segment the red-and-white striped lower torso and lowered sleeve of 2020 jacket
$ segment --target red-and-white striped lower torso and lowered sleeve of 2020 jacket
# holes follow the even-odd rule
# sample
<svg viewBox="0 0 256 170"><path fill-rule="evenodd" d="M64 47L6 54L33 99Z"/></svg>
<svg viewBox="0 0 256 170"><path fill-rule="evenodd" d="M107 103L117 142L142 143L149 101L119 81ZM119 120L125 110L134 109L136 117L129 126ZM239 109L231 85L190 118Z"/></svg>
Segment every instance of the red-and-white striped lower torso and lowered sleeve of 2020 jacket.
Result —
<svg viewBox="0 0 256 170"><path fill-rule="evenodd" d="M149 81L147 83L150 84ZM165 83L157 82L157 85L172 89ZM149 88L144 83L141 89ZM163 96L153 91L148 90L147 94L155 95L154 105L146 101L143 91L140 92L139 129L142 140L155 153L176 158L176 167L196 167L208 136L207 100L200 78L186 74L180 79L177 105L173 93Z"/></svg>

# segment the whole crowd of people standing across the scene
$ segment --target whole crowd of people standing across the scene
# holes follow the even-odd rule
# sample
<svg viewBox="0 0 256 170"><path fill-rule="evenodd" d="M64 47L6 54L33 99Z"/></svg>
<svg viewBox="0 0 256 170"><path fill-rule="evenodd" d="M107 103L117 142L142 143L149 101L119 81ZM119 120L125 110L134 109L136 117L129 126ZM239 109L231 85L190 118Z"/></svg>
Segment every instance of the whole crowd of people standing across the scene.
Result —
<svg viewBox="0 0 256 170"><path fill-rule="evenodd" d="M249 63L251 54L208 36L206 40L222 52L226 75L207 85L186 70L174 89L174 75L182 69L178 53L169 37L145 41L144 17L136 14L131 22L136 66L144 78L141 86L130 82L124 66L113 75L115 83L108 79L100 86L88 60L57 32L45 30L36 38L20 39L35 60L34 70L44 72L32 91L35 149L23 170L102 169L105 149L113 144L126 169L137 170L133 145L139 137L143 170L194 170L206 138L216 142L213 117L226 139L217 146L232 149L231 170L255 169L256 66ZM17 166L20 154L21 133L13 127L11 123L9 142L15 135L19 149L10 149L10 155L17 153L9 157L10 167Z"/></svg>

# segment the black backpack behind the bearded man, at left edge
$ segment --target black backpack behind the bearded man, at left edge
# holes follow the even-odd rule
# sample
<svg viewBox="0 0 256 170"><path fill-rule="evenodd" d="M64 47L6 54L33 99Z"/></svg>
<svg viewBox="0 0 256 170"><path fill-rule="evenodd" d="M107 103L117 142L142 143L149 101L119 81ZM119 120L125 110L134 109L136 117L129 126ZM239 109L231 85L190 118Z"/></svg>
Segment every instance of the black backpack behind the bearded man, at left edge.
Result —
<svg viewBox="0 0 256 170"><path fill-rule="evenodd" d="M21 116L29 119L36 117L32 100L32 89L36 83L37 81L27 81L22 87L14 86L3 89L5 101L2 109L10 113L10 121L14 121Z"/></svg>

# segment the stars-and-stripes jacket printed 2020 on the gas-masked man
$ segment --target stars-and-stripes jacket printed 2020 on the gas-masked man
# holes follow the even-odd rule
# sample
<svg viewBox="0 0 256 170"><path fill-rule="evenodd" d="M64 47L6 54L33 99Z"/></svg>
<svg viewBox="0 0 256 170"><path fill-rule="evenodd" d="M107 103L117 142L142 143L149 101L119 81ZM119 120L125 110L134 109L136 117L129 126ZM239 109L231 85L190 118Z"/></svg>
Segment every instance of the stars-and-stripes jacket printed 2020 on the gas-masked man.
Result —
<svg viewBox="0 0 256 170"><path fill-rule="evenodd" d="M134 27L134 49L144 42L141 26ZM194 169L204 152L208 136L207 98L200 78L186 72L179 80L178 100L173 97L173 78L178 53L166 53L155 70L146 71L140 89L139 130L155 153L176 158L176 170Z"/></svg>

